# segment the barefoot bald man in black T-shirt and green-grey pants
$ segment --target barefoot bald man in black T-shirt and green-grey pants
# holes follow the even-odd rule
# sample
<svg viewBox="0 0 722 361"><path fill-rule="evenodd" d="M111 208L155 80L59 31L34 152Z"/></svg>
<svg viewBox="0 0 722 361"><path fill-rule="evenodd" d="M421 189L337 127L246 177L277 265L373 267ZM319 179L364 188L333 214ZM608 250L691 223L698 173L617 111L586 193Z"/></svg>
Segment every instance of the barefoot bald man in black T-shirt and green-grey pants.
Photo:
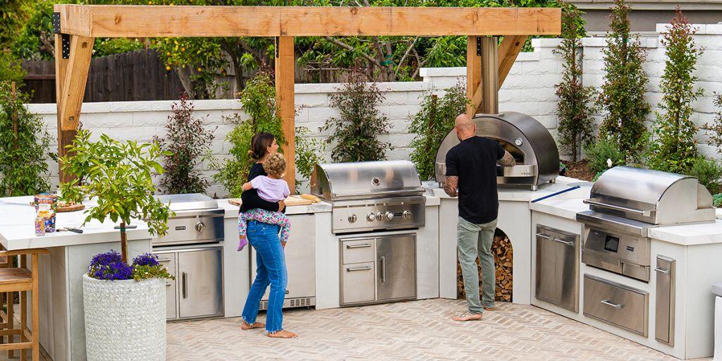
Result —
<svg viewBox="0 0 722 361"><path fill-rule="evenodd" d="M477 136L477 125L468 115L456 117L454 130L460 143L446 154L444 191L458 196L457 251L469 309L453 320L474 321L482 319L484 310L494 309L496 281L491 247L499 212L496 166L511 167L516 161L498 142ZM481 300L477 256L483 276Z"/></svg>

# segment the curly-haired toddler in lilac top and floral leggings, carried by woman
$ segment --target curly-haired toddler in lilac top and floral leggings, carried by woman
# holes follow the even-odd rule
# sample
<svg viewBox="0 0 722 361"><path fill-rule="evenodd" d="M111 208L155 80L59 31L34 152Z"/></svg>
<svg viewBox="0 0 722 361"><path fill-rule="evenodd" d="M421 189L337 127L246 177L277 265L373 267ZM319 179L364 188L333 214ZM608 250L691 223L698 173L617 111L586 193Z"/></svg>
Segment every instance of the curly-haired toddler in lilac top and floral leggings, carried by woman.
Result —
<svg viewBox="0 0 722 361"><path fill-rule="evenodd" d="M258 190L258 196L269 202L277 202L286 199L291 194L288 183L282 178L286 174L286 161L282 155L278 153L269 155L264 161L264 170L268 174L258 175L251 179L250 182L243 184L243 191L251 188ZM265 209L251 209L248 212L240 212L238 214L238 251L243 250L248 244L245 237L247 222L254 220L257 222L268 223L269 225L278 225L281 227L281 243L285 246L288 242L289 230L291 228L290 219L282 212L269 212Z"/></svg>

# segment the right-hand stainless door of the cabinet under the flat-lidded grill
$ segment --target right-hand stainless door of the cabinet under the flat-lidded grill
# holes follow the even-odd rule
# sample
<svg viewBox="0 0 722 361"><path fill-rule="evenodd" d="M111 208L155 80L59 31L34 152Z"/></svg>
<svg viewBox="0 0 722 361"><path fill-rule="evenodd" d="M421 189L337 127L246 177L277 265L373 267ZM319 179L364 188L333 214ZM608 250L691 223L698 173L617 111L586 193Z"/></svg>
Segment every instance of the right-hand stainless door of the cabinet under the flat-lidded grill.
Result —
<svg viewBox="0 0 722 361"><path fill-rule="evenodd" d="M178 252L180 318L223 314L221 248Z"/></svg>

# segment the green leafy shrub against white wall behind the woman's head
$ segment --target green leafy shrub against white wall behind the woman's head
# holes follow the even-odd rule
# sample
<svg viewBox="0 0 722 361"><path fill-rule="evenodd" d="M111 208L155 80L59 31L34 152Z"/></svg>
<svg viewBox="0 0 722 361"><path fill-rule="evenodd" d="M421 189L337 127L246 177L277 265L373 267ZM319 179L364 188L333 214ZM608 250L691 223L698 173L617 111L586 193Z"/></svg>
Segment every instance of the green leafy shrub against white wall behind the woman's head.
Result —
<svg viewBox="0 0 722 361"><path fill-rule="evenodd" d="M235 114L228 119L235 123L235 128L226 136L226 141L232 144L228 151L230 157L211 165L218 172L213 175L214 180L225 186L232 197L243 193L243 183L253 165L253 159L248 155L253 134L266 131L274 135L279 146L286 143L281 118L276 113L276 88L269 74L261 73L251 79L240 94L240 103L249 118L244 120Z"/></svg>

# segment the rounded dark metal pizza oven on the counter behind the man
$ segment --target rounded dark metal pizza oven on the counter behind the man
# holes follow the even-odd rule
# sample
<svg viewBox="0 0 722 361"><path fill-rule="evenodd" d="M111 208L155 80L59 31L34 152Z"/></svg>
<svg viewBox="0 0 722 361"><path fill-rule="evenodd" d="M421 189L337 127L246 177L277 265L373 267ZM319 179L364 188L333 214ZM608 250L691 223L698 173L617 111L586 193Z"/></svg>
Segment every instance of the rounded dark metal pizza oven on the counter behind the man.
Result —
<svg viewBox="0 0 722 361"><path fill-rule="evenodd" d="M552 134L536 119L522 113L477 114L477 136L499 142L516 160L513 167L497 165L500 185L529 186L554 182L559 175L559 149ZM446 153L459 143L456 131L445 136L436 152L436 181L443 184L446 173Z"/></svg>

